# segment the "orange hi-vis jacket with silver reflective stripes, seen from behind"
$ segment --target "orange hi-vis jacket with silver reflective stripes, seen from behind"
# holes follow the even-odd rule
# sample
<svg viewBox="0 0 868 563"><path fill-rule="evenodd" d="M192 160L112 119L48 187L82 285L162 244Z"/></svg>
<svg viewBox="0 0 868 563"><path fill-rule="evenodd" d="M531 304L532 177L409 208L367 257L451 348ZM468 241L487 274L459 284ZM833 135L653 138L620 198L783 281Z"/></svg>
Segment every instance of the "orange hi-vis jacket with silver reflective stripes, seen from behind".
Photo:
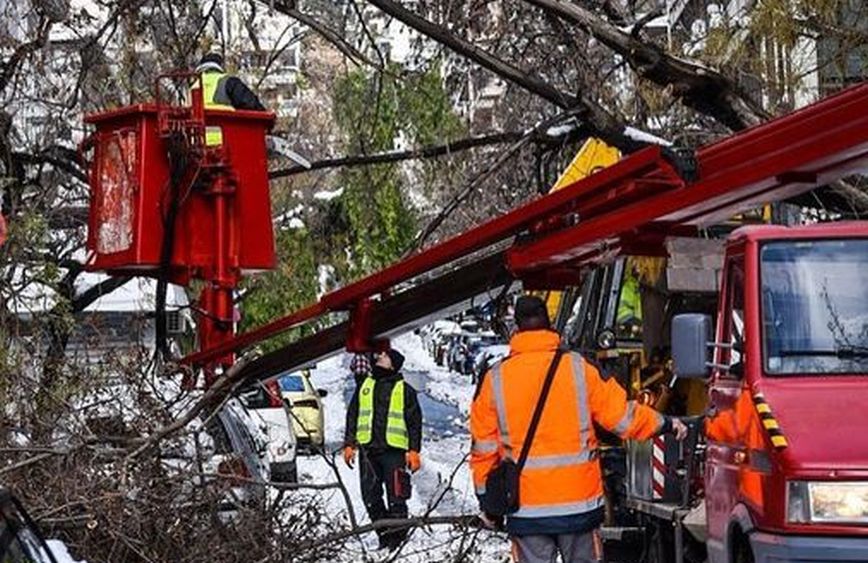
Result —
<svg viewBox="0 0 868 563"><path fill-rule="evenodd" d="M470 467L477 494L502 458L518 460L560 337L550 330L516 333L510 355L482 382L470 410ZM518 518L581 514L603 506L596 421L622 438L647 439L663 427L654 409L628 401L614 379L579 354L566 353L555 372L519 484Z"/></svg>

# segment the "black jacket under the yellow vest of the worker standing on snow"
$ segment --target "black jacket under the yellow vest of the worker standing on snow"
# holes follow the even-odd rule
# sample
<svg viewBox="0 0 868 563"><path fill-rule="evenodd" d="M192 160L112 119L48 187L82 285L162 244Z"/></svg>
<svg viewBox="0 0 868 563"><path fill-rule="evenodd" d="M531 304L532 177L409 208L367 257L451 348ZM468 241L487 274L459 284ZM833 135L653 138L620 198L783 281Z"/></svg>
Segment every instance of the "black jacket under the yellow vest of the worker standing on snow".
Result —
<svg viewBox="0 0 868 563"><path fill-rule="evenodd" d="M386 420L389 414L389 401L392 399L392 389L395 383L403 377L400 373L392 372L386 376L372 375L374 385L374 421L371 442L365 445L369 451L384 451L391 446L386 444ZM362 380L364 381L364 380ZM356 386L353 398L350 399L347 408L347 426L344 433L344 444L356 446L356 423L359 420L359 389ZM416 390L406 382L404 383L404 423L407 425L407 436L410 439L410 449L421 451L422 449L422 409L419 407L419 399Z"/></svg>

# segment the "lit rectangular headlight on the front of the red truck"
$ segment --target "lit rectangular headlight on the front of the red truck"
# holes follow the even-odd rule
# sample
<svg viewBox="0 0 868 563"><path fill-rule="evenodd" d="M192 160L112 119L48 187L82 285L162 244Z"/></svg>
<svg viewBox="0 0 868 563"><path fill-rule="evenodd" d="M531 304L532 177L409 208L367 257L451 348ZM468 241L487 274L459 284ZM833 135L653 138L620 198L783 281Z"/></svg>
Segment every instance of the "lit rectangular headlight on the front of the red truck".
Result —
<svg viewBox="0 0 868 563"><path fill-rule="evenodd" d="M868 524L868 482L790 481L787 521Z"/></svg>

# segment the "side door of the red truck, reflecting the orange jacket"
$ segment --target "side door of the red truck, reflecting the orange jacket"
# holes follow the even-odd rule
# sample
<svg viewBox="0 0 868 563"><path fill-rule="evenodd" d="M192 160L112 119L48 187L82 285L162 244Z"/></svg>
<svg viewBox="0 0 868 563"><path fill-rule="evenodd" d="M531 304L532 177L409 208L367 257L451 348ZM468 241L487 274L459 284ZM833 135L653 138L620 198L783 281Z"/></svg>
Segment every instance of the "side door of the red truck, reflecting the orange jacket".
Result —
<svg viewBox="0 0 868 563"><path fill-rule="evenodd" d="M718 367L709 391L715 414L706 426L705 503L711 563L728 563L724 546L730 514L738 502L739 452L744 451L736 412L743 385L744 255L728 258L724 271L723 309L717 330L717 341L724 346L715 348Z"/></svg>

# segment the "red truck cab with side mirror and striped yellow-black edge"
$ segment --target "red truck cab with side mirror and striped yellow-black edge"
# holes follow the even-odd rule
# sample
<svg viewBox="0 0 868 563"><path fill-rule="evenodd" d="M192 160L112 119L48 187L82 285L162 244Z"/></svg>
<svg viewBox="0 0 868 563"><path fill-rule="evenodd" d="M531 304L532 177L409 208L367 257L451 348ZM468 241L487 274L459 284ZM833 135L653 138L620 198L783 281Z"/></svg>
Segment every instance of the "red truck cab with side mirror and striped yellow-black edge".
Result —
<svg viewBox="0 0 868 563"><path fill-rule="evenodd" d="M868 561L866 281L866 223L745 227L716 336L673 319L676 375L708 383L710 563Z"/></svg>

